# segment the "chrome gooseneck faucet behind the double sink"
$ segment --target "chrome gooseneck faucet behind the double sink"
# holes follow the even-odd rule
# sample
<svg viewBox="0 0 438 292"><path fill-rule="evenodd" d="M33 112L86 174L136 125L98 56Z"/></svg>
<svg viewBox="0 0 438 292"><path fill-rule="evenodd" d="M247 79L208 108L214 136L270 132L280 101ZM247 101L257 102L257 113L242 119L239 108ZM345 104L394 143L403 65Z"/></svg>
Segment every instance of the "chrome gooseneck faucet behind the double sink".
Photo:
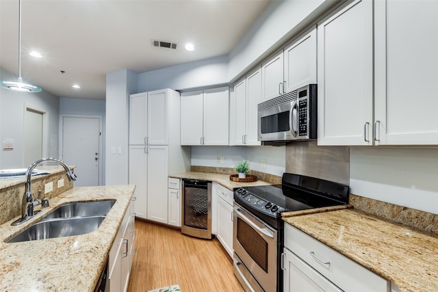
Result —
<svg viewBox="0 0 438 292"><path fill-rule="evenodd" d="M34 163L32 163L29 166L29 168L27 168L26 174L25 174L25 176L27 177L27 182L26 182L25 194L23 195L23 201L21 204L21 218L16 220L15 222L13 222L12 225L21 224L21 223L29 220L31 217L34 217L35 204L34 204L34 194L32 194L32 189L31 189L31 175L32 175L32 172L34 171L34 168L36 168L36 165L39 165L39 164L41 164L43 162L47 162L47 161L54 161L54 162L62 165L64 170L66 170L68 181L76 181L76 174L71 172L70 169L68 168L68 166L66 165L66 163L64 163L64 161L62 161L60 159L42 158L42 159L39 159L39 160L35 161Z"/></svg>

